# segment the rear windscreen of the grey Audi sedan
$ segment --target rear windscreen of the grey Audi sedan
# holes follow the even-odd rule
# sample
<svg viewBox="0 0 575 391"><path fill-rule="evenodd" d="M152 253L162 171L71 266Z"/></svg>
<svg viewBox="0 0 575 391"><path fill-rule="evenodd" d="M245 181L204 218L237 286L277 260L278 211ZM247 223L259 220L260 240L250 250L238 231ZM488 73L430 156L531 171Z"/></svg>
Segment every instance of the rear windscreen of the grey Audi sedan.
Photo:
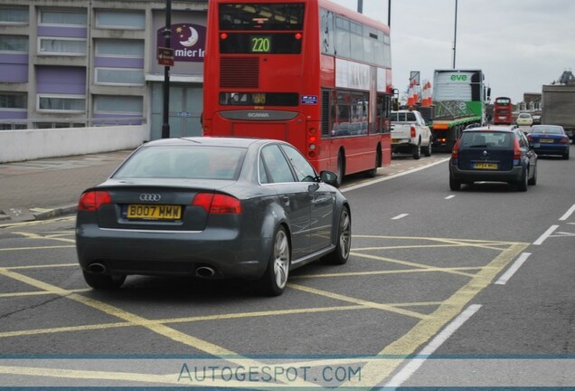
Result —
<svg viewBox="0 0 575 391"><path fill-rule="evenodd" d="M129 157L112 177L236 180L244 155L245 148L145 147Z"/></svg>

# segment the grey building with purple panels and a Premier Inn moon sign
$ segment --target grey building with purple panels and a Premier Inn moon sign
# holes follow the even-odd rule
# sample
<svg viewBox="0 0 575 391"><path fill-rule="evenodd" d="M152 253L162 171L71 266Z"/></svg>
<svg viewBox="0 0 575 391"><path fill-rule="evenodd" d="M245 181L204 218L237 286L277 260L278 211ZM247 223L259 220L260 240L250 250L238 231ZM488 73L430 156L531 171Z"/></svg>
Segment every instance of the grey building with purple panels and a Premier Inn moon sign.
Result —
<svg viewBox="0 0 575 391"><path fill-rule="evenodd" d="M170 136L201 135L207 0L171 1ZM166 2L0 0L0 130L149 124L161 138Z"/></svg>

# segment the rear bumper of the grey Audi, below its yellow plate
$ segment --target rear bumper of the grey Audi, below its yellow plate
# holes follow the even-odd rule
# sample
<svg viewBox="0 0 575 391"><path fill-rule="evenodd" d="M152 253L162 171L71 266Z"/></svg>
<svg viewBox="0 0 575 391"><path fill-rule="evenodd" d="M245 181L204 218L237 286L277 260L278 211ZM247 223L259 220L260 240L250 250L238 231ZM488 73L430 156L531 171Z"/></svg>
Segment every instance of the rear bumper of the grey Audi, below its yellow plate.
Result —
<svg viewBox="0 0 575 391"><path fill-rule="evenodd" d="M145 232L83 225L76 233L80 266L92 263L105 273L196 275L213 269L213 278L258 278L265 272L271 238L245 238L235 231Z"/></svg>

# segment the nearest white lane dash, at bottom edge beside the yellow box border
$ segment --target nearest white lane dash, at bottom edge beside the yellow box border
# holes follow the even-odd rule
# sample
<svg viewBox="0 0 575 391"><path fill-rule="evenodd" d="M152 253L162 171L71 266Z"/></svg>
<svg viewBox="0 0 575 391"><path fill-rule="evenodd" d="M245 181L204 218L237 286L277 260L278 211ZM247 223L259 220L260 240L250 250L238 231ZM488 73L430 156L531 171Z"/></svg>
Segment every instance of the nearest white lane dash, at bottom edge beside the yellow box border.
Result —
<svg viewBox="0 0 575 391"><path fill-rule="evenodd" d="M388 387L399 387L405 383L418 369L423 365L428 356L431 356L441 344L443 344L449 337L451 337L457 329L459 329L469 318L471 318L477 310L481 308L480 304L472 304L466 310L461 312L456 319L454 319L448 326L443 329L429 344L423 348L418 356L423 358L413 358L410 362L398 372L397 375L383 386L382 389L389 389Z"/></svg>

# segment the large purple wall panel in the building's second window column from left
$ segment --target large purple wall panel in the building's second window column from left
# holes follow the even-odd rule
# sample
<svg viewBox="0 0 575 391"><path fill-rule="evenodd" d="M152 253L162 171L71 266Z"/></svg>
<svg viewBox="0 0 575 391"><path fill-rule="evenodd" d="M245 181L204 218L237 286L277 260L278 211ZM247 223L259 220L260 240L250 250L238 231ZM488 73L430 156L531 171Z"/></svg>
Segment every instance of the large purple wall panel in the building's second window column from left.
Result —
<svg viewBox="0 0 575 391"><path fill-rule="evenodd" d="M86 68L36 67L38 93L86 94Z"/></svg>

